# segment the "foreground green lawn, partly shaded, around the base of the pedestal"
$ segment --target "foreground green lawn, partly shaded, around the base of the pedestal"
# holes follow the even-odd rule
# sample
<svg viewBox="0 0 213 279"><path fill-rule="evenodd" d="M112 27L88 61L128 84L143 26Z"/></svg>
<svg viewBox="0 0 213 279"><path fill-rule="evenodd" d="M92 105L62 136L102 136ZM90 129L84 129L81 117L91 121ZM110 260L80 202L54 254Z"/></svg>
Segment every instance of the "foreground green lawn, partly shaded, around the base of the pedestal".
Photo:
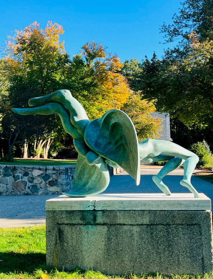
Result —
<svg viewBox="0 0 213 279"><path fill-rule="evenodd" d="M0 229L0 279L119 279L91 270L60 272L49 270L45 264L45 226ZM163 251L162 251L163 252ZM130 279L213 279L212 274L132 275Z"/></svg>

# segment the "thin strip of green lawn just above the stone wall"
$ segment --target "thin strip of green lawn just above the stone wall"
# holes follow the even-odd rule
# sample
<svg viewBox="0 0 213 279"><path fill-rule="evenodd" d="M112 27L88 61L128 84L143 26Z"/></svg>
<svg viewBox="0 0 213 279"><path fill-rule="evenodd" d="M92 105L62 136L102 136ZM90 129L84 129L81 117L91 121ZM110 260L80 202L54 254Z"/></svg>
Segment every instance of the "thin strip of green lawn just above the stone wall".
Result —
<svg viewBox="0 0 213 279"><path fill-rule="evenodd" d="M51 159L15 159L15 162L2 162L0 165L34 165L34 166L63 166L75 165L77 160L51 160ZM1 279L1 278L0 278Z"/></svg>

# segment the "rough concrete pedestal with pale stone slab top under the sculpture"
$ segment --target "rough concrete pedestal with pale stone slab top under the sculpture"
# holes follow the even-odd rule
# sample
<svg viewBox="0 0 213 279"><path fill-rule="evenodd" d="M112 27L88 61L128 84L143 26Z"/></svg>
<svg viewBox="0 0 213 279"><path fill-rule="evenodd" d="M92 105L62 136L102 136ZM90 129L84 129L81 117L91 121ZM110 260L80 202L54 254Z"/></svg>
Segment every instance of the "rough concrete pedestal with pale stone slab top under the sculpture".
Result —
<svg viewBox="0 0 213 279"><path fill-rule="evenodd" d="M46 201L47 266L105 274L212 271L211 200L99 194Z"/></svg>

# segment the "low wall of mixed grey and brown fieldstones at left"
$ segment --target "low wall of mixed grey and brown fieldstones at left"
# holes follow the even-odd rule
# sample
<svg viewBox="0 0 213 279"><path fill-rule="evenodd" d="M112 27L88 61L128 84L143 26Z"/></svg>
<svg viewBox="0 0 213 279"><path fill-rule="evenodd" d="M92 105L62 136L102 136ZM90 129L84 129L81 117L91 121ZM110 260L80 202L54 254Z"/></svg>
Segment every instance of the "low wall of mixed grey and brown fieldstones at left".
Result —
<svg viewBox="0 0 213 279"><path fill-rule="evenodd" d="M0 195L48 195L69 192L75 165L0 165Z"/></svg>

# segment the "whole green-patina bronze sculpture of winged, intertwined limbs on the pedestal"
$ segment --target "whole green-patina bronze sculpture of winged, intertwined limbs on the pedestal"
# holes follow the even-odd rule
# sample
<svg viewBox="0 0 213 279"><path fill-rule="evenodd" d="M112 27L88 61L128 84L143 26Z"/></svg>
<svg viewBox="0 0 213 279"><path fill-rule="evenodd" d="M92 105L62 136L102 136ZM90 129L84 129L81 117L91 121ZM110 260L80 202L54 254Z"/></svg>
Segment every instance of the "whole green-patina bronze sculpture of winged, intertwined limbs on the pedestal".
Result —
<svg viewBox="0 0 213 279"><path fill-rule="evenodd" d="M139 185L140 161L169 160L159 174L153 176L155 184L163 193L170 195L162 178L184 162L184 178L180 183L195 197L199 197L190 182L198 157L168 141L147 139L138 145L134 125L124 112L112 109L90 122L84 108L69 90L58 90L44 97L32 98L28 104L40 106L12 108L12 111L21 115L57 113L65 131L74 138L79 155L72 190L65 195L82 197L103 192L110 182L107 163L112 167L122 167Z"/></svg>

